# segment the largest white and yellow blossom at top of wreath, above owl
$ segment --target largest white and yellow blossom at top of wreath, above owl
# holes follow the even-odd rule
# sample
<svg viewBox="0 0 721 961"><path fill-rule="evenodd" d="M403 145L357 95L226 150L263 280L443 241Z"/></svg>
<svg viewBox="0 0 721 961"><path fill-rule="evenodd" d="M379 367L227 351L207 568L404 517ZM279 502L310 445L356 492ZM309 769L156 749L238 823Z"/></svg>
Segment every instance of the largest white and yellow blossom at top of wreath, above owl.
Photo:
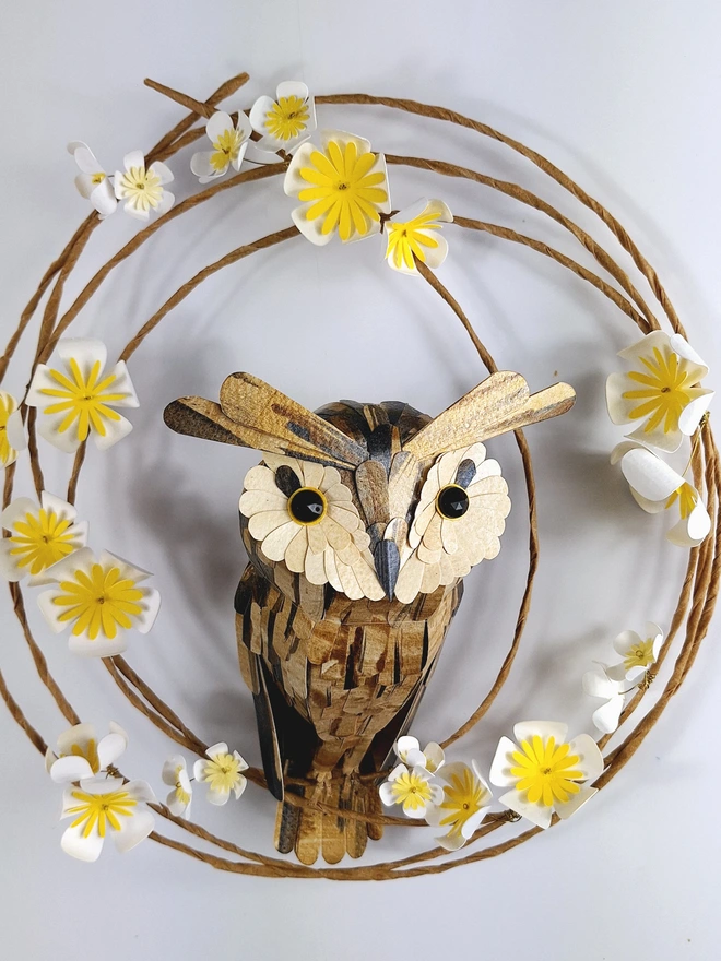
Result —
<svg viewBox="0 0 721 961"><path fill-rule="evenodd" d="M293 223L320 246L335 232L343 242L377 234L380 215L390 213L386 157L342 130L322 131L320 141L302 144L285 175L285 192L302 202Z"/></svg>

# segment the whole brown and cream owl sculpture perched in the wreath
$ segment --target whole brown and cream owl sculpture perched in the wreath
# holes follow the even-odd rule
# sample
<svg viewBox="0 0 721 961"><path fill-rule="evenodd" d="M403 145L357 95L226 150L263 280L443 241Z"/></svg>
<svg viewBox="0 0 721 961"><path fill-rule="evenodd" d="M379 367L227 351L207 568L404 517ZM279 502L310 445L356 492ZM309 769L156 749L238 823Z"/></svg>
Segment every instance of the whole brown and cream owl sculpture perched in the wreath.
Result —
<svg viewBox="0 0 721 961"><path fill-rule="evenodd" d="M574 401L568 384L530 394L501 371L434 418L398 401L311 413L233 373L220 404L166 408L179 434L262 453L240 497L250 562L235 609L279 851L335 864L380 837L364 819L373 773L409 728L464 576L500 548L510 500L483 441Z"/></svg>

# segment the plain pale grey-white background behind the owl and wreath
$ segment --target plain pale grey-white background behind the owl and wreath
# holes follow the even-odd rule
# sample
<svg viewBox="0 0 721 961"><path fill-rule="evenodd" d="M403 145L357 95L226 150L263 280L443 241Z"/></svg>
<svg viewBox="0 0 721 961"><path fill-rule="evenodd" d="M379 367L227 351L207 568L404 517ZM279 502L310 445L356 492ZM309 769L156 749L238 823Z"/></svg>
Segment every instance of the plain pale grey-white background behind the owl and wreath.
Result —
<svg viewBox="0 0 721 961"><path fill-rule="evenodd" d="M2 340L47 264L86 213L68 140L87 140L109 169L149 147L182 110L142 86L150 75L204 97L240 70L249 106L285 79L318 94L407 96L453 107L534 146L619 216L657 266L696 348L718 355L718 105L721 12L710 0L263 0L103 5L5 5L0 37L4 131L0 226ZM557 203L614 253L613 238L530 164L466 131L381 108L319 108L321 126L351 129L388 153L446 158ZM196 191L186 152L170 162L176 193ZM505 223L591 266L540 215L470 185L392 168L393 206L439 195L458 213ZM123 264L73 330L117 354L189 276L239 244L289 223L279 180L231 191L176 221ZM137 232L118 213L93 237L63 307ZM607 454L622 431L605 417L603 383L635 329L601 295L536 253L449 228L439 276L501 367L534 389L556 377L579 401L529 430L537 472L541 571L519 659L484 722L457 746L487 768L498 736L528 716L590 727L580 691L593 659L648 618L667 626L685 555L663 539L665 518L642 514ZM628 265L628 260L622 258ZM651 294L639 282L645 296ZM31 336L37 332L37 323ZM5 387L22 393L31 341ZM133 434L88 453L79 509L91 542L156 572L163 608L129 660L209 743L227 739L257 763L250 698L235 660L233 591L243 570L236 500L248 451L179 438L162 424L174 398L215 396L243 369L312 408L341 396L398 398L437 413L484 371L456 318L423 283L382 262L380 241L311 248L303 238L204 284L130 365L141 398ZM713 383L713 377L710 378ZM468 593L416 723L441 738L478 703L510 642L527 562L523 485L512 441L490 444L516 508L500 557ZM64 490L68 459L42 450L47 486ZM679 454L683 462L684 452ZM682 463L683 467L683 463ZM16 491L31 493L24 468ZM96 662L31 622L50 669L84 720L121 722L123 770L150 780L172 745L126 704ZM7 597L2 669L32 723L54 741L66 724L38 681ZM59 847L59 790L24 734L0 712L2 843L0 947L16 959L465 957L710 959L718 949L721 871L716 729L721 656L713 626L682 691L633 761L569 823L517 851L438 877L397 883L271 881L214 871L146 842L92 865ZM652 689L651 700L662 681ZM192 760L189 758L189 760ZM200 791L198 792L200 794ZM240 803L194 817L271 853L273 810L249 787ZM165 828L163 828L165 830ZM175 829L169 833L179 835ZM368 853L403 856L433 832L400 831Z"/></svg>

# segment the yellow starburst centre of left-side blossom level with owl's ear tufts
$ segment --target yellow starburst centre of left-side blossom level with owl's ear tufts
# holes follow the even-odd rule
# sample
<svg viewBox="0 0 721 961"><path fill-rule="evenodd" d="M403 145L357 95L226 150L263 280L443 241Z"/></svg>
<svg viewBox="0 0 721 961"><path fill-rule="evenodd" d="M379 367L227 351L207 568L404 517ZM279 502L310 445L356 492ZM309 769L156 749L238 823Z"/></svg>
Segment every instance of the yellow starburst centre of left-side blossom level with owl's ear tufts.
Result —
<svg viewBox="0 0 721 961"><path fill-rule="evenodd" d="M115 411L111 411L107 404L110 404L114 401L120 401L126 395L122 393L114 394L107 391L107 388L109 388L116 380L114 373L106 377L105 380L102 380L99 383L97 382L97 378L101 373L99 360L96 360L95 364L93 364L87 379L83 377L83 372L78 366L78 361L74 357L70 358L69 367L70 372L72 373L72 380L59 370L48 371L52 380L55 380L60 387L55 389L43 388L40 393L47 394L51 398L59 398L60 400L57 404L50 404L48 407L45 407L44 413L60 414L67 412L66 417L63 417L58 427L60 434L68 430L68 428L76 420L79 440L85 440L87 438L91 427L94 430L97 430L101 437L104 437L106 431L103 418L108 420L120 419L120 415Z"/></svg>

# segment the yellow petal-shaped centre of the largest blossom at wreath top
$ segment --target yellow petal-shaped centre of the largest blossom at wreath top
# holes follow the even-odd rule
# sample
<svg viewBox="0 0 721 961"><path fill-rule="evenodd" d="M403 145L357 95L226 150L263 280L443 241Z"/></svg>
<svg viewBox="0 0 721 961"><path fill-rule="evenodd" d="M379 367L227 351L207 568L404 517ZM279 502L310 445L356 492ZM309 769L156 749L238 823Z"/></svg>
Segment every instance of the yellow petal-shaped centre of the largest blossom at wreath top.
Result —
<svg viewBox="0 0 721 961"><path fill-rule="evenodd" d="M378 186L386 182L385 174L368 173L376 158L369 151L358 156L353 141L344 151L333 140L326 153L314 151L312 166L300 168L303 179L314 185L298 193L302 201L315 201L304 216L308 221L321 217L322 234L330 234L338 226L342 240L356 233L365 236L370 225L379 221L378 205L388 200L388 193Z"/></svg>

